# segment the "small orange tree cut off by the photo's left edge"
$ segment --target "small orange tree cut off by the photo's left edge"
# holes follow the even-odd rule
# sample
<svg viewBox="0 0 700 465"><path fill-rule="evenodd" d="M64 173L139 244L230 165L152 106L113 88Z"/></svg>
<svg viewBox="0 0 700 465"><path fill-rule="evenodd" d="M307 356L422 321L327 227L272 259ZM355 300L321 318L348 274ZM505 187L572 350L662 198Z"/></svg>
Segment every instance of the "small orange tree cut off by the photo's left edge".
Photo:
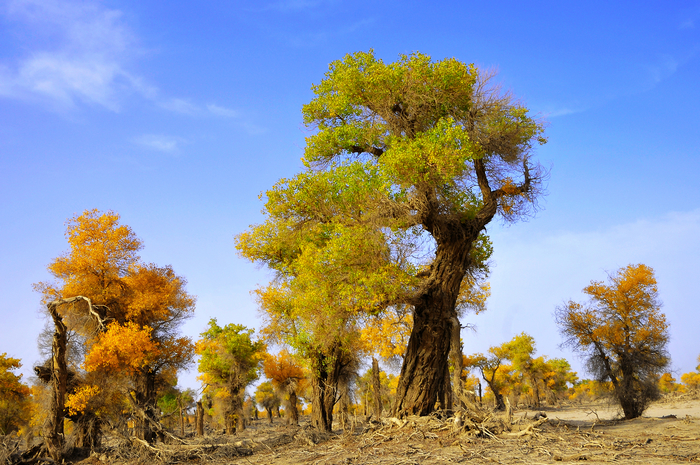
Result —
<svg viewBox="0 0 700 465"><path fill-rule="evenodd" d="M10 434L29 421L31 390L14 373L22 366L18 358L0 354L0 435Z"/></svg>

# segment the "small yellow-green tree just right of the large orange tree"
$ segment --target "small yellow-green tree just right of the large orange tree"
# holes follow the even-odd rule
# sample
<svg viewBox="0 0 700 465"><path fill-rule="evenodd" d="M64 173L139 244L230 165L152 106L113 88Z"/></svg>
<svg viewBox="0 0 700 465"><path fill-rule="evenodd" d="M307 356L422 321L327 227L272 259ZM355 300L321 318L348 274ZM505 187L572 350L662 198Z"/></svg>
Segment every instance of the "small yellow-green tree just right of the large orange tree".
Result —
<svg viewBox="0 0 700 465"><path fill-rule="evenodd" d="M200 379L207 389L218 390L219 396L227 399L223 415L228 434L245 427L243 395L246 386L259 376L265 344L253 340L253 333L239 324L221 327L212 318L197 341Z"/></svg>

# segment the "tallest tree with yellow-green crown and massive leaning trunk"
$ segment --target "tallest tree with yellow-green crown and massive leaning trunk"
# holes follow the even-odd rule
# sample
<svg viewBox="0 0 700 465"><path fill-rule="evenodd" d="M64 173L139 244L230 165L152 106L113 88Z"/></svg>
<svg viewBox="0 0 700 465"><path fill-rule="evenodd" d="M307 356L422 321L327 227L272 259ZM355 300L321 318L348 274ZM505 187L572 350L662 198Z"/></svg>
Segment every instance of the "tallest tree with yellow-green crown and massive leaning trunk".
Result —
<svg viewBox="0 0 700 465"><path fill-rule="evenodd" d="M397 415L430 413L445 386L457 297L479 235L497 215L527 215L541 193L543 171L531 151L544 142L542 124L491 77L420 53L384 63L358 52L331 63L302 110L315 130L306 141L307 169L268 192L268 221L245 241L281 238L279 253L262 260L275 269L306 247L343 243L347 254L369 261L387 255L363 255L368 244L429 238L423 272L365 266L343 275L356 288L356 311L413 308ZM288 239L310 230L320 240ZM314 259L322 266L326 257Z"/></svg>

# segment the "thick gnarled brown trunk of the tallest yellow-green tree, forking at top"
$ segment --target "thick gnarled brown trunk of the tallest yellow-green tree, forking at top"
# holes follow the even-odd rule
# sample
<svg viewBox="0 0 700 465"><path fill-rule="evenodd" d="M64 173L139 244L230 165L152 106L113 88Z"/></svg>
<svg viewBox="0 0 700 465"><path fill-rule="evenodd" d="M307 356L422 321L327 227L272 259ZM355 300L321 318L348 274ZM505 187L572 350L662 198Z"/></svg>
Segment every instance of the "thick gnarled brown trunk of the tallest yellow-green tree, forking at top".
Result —
<svg viewBox="0 0 700 465"><path fill-rule="evenodd" d="M479 233L498 211L498 194L491 190L484 160L474 160L474 173L483 196L483 204L471 218L457 219L441 211L437 193L420 189L416 193L421 207L421 224L435 239L435 259L421 285L420 295L412 299L413 330L408 341L394 415L427 415L435 405L440 384L444 382L450 351L450 336L457 318L455 304L462 279L469 269L469 252ZM526 170L522 192L529 189Z"/></svg>

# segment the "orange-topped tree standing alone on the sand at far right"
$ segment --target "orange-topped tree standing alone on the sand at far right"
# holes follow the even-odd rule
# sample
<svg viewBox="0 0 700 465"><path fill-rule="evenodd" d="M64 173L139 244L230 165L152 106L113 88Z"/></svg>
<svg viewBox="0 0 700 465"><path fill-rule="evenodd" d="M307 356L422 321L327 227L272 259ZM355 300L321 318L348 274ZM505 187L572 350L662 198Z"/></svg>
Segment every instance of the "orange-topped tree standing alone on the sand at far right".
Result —
<svg viewBox="0 0 700 465"><path fill-rule="evenodd" d="M587 303L557 307L564 344L583 353L588 370L609 381L625 418L639 417L658 397L669 364L668 324L661 313L654 270L628 265L583 289Z"/></svg>

